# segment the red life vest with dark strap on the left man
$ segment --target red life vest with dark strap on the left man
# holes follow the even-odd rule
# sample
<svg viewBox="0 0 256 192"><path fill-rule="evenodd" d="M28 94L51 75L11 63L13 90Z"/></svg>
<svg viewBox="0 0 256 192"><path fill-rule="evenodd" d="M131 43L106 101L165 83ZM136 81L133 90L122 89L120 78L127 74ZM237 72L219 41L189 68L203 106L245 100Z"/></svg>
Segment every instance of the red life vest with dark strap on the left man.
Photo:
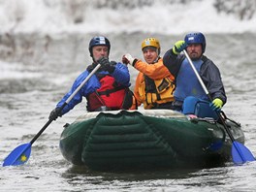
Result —
<svg viewBox="0 0 256 192"><path fill-rule="evenodd" d="M106 106L111 110L122 110L128 87L120 85L110 75L97 77L101 86L87 96L87 110L92 112L101 106Z"/></svg>

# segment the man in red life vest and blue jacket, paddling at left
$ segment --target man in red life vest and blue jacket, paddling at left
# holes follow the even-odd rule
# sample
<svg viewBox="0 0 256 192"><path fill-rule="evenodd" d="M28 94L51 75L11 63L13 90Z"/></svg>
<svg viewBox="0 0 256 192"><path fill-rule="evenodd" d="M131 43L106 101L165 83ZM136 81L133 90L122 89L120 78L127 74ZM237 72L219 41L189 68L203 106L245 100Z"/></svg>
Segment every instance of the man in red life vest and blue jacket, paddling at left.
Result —
<svg viewBox="0 0 256 192"><path fill-rule="evenodd" d="M75 80L70 91L58 102L56 108L50 112L48 118L55 120L70 110L85 97L87 100L87 111L106 110L128 110L132 106L129 86L130 74L128 67L120 62L110 61L110 41L104 36L96 36L90 40L89 52L92 57L92 64L80 74ZM60 107L80 86L91 71L101 64L99 70L80 88L80 91L73 97L67 106L60 112Z"/></svg>

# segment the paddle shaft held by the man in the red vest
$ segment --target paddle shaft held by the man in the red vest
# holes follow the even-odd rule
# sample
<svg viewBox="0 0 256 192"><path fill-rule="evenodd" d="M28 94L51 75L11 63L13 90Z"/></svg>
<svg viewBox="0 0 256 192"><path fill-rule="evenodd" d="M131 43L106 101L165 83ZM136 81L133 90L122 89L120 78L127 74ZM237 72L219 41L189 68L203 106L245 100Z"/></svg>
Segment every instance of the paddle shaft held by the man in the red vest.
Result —
<svg viewBox="0 0 256 192"><path fill-rule="evenodd" d="M95 72L101 67L101 64L98 64L92 72L80 83L80 86L69 96L69 98L65 101L65 103L60 107L59 113L65 108L66 105L73 99L73 97L80 91L80 88L95 74ZM48 122L44 125L44 127L37 133L37 135L31 140L30 144L32 145L41 134L48 128L48 125L52 122L52 120L48 120Z"/></svg>

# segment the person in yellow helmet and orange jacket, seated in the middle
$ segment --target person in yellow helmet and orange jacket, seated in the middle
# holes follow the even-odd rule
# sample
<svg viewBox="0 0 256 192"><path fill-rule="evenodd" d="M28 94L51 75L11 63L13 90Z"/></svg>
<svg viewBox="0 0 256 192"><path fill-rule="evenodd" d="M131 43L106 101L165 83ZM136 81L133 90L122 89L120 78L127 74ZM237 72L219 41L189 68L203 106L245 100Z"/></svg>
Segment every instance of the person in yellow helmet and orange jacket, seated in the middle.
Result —
<svg viewBox="0 0 256 192"><path fill-rule="evenodd" d="M156 38L146 38L142 43L144 61L126 53L122 62L139 71L134 88L137 105L144 109L172 109L175 90L174 76L164 66L160 57L160 43ZM136 109L134 102L131 110Z"/></svg>

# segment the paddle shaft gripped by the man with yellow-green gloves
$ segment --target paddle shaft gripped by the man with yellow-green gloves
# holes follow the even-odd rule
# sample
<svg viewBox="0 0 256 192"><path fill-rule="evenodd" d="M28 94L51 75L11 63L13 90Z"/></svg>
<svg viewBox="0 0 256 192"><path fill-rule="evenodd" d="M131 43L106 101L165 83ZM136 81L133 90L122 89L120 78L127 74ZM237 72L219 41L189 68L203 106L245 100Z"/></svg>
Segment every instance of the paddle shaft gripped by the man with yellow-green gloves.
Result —
<svg viewBox="0 0 256 192"><path fill-rule="evenodd" d="M201 79L200 75L198 74L198 71L196 70L195 66L193 65L193 62L192 62L192 60L190 59L189 55L187 54L187 51L186 51L185 49L183 49L183 52L184 52L184 54L185 54L185 56L186 56L186 58L187 58L187 60L188 60L188 62L189 62L189 64L190 64L190 66L192 67L194 73L196 74L197 79L199 80L201 86L203 87L205 93L208 95L209 101L212 101L212 98L211 98L211 96L210 96L210 94L209 94L209 92L208 92L208 88L206 87L204 81ZM232 133L230 132L229 128L227 127L226 122L225 122L223 116L221 116L221 114L220 114L219 112L216 112L216 113L218 114L218 117L220 118L220 120L221 120L221 122L222 122L222 124L223 124L223 126L224 126L224 128L225 128L225 130L226 130L226 132L228 133L228 135L229 135L229 137L230 137L232 143L234 143L234 142L235 142L235 139L234 139Z"/></svg>

